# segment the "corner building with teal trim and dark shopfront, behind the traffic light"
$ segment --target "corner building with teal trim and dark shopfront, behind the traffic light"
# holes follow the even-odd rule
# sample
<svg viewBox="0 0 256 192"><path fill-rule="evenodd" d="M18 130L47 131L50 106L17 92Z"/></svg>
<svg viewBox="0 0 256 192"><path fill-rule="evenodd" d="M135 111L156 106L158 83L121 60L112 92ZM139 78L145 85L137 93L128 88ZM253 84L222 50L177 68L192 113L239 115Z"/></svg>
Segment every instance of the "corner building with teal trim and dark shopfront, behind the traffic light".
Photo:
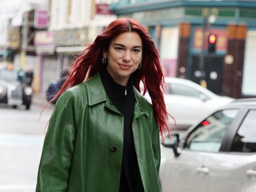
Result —
<svg viewBox="0 0 256 192"><path fill-rule="evenodd" d="M166 76L204 80L209 90L234 98L256 96L255 1L120 0L111 10L148 28Z"/></svg>

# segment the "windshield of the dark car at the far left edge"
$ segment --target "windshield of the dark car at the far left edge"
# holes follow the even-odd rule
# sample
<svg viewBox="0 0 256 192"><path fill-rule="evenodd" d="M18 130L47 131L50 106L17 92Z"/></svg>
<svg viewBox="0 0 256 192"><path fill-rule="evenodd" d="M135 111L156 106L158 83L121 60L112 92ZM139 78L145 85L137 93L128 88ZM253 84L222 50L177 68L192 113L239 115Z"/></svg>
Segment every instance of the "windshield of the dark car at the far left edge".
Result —
<svg viewBox="0 0 256 192"><path fill-rule="evenodd" d="M23 83L24 75L22 72L15 70L0 70L0 80L7 82L20 81Z"/></svg>

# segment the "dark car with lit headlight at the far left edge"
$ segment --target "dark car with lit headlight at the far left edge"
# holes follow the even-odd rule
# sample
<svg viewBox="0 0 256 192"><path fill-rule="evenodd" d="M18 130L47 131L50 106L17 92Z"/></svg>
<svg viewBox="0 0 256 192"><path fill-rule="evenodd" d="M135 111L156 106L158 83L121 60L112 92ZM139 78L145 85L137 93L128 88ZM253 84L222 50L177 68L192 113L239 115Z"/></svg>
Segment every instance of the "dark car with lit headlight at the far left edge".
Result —
<svg viewBox="0 0 256 192"><path fill-rule="evenodd" d="M0 69L0 103L16 108L25 105L30 109L33 89L26 85L25 72L14 69Z"/></svg>

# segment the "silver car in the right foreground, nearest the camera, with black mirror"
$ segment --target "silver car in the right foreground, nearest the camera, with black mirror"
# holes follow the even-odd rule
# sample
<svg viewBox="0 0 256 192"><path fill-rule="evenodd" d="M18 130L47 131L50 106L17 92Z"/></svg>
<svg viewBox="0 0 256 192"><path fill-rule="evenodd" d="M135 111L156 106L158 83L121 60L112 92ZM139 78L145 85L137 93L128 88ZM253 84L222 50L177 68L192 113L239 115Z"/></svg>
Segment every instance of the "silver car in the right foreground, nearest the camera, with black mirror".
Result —
<svg viewBox="0 0 256 192"><path fill-rule="evenodd" d="M256 98L238 99L161 143L163 192L256 191Z"/></svg>

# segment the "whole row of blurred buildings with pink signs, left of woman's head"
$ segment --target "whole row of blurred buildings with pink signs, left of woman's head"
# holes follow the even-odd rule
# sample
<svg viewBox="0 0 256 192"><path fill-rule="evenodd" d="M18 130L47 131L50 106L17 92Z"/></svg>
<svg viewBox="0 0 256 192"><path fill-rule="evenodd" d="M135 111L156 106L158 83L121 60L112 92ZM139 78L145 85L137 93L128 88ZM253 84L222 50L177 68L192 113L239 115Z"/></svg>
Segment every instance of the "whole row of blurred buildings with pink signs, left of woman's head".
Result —
<svg viewBox="0 0 256 192"><path fill-rule="evenodd" d="M42 0L24 3L9 17L0 17L0 64L33 70L35 92L45 93L51 81L70 67L87 44L116 19L113 0ZM18 5L17 5L18 6Z"/></svg>

